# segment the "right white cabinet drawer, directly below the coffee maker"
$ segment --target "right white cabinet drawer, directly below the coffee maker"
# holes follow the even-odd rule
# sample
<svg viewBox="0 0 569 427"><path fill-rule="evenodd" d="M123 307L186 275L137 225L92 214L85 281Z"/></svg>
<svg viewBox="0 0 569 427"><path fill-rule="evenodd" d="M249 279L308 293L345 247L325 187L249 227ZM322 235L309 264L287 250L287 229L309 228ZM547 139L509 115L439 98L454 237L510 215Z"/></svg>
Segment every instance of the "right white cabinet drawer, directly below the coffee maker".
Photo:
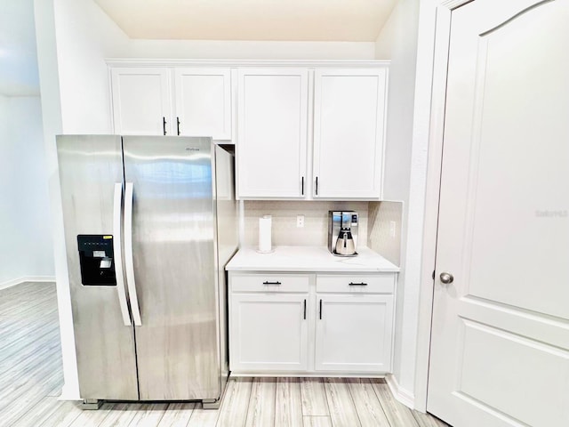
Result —
<svg viewBox="0 0 569 427"><path fill-rule="evenodd" d="M317 275L317 293L393 294L395 274Z"/></svg>

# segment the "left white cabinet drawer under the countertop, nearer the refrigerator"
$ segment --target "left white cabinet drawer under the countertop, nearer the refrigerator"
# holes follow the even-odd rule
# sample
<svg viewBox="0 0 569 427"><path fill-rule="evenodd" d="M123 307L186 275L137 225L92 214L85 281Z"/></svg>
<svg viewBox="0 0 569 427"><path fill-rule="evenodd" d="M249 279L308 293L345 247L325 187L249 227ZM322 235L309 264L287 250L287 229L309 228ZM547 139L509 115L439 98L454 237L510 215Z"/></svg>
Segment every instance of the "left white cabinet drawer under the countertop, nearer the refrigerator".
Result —
<svg viewBox="0 0 569 427"><path fill-rule="evenodd" d="M308 275L244 274L231 275L232 292L309 292Z"/></svg>

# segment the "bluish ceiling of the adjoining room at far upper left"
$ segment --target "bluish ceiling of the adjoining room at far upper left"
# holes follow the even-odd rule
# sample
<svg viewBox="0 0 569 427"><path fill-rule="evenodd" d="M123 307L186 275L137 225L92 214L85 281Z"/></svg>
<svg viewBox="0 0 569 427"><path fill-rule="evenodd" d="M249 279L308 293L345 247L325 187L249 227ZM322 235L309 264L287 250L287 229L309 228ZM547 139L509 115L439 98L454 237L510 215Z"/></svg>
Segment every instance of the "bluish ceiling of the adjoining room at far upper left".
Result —
<svg viewBox="0 0 569 427"><path fill-rule="evenodd" d="M0 0L0 94L39 94L34 0Z"/></svg>

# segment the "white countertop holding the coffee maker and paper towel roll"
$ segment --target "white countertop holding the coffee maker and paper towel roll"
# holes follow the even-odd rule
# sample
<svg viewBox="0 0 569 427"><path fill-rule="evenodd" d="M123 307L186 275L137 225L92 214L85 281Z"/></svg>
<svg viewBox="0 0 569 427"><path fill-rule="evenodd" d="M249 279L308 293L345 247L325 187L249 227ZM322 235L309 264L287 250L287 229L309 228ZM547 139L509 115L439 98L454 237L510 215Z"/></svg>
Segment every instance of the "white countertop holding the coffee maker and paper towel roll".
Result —
<svg viewBox="0 0 569 427"><path fill-rule="evenodd" d="M357 256L341 257L331 254L325 246L275 246L271 254L243 247L225 270L397 272L399 267L367 247L358 247Z"/></svg>

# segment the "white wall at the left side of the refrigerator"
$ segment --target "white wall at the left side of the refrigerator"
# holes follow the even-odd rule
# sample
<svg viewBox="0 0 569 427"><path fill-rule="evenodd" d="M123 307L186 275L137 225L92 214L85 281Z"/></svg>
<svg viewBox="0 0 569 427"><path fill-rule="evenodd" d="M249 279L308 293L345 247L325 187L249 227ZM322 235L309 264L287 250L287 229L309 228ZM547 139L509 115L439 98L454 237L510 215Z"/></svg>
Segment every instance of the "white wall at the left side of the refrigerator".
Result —
<svg viewBox="0 0 569 427"><path fill-rule="evenodd" d="M110 133L104 58L122 52L127 38L92 0L35 0L34 8L65 379L61 396L78 399L55 135Z"/></svg>

